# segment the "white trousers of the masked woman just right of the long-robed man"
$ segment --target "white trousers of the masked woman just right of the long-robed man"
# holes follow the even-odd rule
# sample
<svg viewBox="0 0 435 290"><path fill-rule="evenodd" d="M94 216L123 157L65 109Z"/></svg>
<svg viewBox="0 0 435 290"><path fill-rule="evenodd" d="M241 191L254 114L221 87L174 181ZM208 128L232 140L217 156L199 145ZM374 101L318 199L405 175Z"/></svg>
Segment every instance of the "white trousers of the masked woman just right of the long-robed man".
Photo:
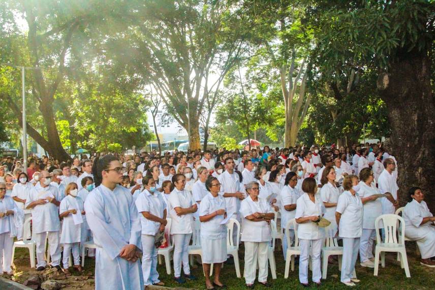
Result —
<svg viewBox="0 0 435 290"><path fill-rule="evenodd" d="M159 283L157 272L157 251L154 245L154 236L142 235L142 273L145 286Z"/></svg>

